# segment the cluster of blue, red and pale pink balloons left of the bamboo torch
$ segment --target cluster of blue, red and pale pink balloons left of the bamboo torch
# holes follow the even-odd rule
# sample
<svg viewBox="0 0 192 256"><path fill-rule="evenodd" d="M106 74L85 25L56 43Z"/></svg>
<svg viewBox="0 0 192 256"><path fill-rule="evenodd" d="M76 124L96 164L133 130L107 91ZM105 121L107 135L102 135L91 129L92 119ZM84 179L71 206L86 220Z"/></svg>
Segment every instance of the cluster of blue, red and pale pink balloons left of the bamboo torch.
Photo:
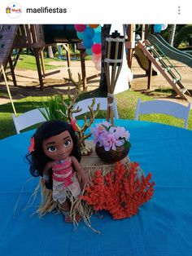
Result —
<svg viewBox="0 0 192 256"><path fill-rule="evenodd" d="M101 26L99 24L75 24L76 35L83 41L87 55L97 70L101 70Z"/></svg>

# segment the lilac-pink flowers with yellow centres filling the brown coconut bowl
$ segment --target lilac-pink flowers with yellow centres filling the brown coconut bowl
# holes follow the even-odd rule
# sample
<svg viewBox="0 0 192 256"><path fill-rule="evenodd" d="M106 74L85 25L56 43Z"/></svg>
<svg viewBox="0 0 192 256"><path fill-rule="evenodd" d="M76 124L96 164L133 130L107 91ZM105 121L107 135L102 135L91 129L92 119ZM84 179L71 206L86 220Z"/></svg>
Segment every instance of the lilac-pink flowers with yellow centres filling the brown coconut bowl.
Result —
<svg viewBox="0 0 192 256"><path fill-rule="evenodd" d="M95 128L91 129L94 137L94 143L99 147L103 147L105 151L116 150L118 147L124 145L124 148L130 148L129 131L124 127L114 127L108 121L96 124Z"/></svg>

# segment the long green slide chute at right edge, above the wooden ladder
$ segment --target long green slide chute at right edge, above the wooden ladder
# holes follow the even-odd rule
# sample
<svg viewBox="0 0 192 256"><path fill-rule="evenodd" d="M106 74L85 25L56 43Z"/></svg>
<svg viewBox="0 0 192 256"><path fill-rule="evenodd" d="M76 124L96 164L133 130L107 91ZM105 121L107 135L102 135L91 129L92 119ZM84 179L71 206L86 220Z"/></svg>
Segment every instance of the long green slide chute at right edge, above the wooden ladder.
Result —
<svg viewBox="0 0 192 256"><path fill-rule="evenodd" d="M192 56L170 46L159 34L150 34L147 40L151 42L151 45L158 46L170 59L180 61L192 68Z"/></svg>

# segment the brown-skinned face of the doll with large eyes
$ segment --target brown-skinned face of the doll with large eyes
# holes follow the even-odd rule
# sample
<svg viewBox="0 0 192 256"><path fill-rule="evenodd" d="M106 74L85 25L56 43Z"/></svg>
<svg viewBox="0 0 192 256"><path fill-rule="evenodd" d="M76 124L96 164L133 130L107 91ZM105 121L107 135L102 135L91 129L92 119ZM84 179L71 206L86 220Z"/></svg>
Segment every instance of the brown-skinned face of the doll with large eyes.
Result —
<svg viewBox="0 0 192 256"><path fill-rule="evenodd" d="M64 160L71 154L72 148L72 137L68 130L45 139L42 143L42 149L46 156L53 160Z"/></svg>

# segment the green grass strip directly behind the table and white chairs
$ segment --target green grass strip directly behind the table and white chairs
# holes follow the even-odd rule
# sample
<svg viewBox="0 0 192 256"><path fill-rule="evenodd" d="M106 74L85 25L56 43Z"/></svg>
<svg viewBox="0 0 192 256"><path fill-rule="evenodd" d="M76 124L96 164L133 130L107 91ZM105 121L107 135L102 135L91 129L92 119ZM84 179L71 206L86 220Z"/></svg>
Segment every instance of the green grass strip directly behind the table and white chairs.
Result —
<svg viewBox="0 0 192 256"><path fill-rule="evenodd" d="M89 96L98 96L103 95L99 90L86 92L81 95L81 99L88 98ZM134 119L134 113L137 105L137 99L141 98L142 100L150 100L151 97L142 95L139 92L135 91L125 91L116 95L116 103L120 118L125 119ZM18 114L24 113L30 109L35 108L34 103L40 104L42 100L46 101L47 97L27 97L24 99L17 100L15 102L15 109ZM15 134L15 127L12 121L11 113L13 113L11 104L2 104L0 105L0 139L3 139L7 136ZM98 117L104 117L103 113L99 113ZM143 115L141 120L147 121L156 121L171 126L183 126L183 121L178 120L175 117L168 117L161 114L154 115ZM188 124L188 129L192 130L192 111L190 111L190 120Z"/></svg>

